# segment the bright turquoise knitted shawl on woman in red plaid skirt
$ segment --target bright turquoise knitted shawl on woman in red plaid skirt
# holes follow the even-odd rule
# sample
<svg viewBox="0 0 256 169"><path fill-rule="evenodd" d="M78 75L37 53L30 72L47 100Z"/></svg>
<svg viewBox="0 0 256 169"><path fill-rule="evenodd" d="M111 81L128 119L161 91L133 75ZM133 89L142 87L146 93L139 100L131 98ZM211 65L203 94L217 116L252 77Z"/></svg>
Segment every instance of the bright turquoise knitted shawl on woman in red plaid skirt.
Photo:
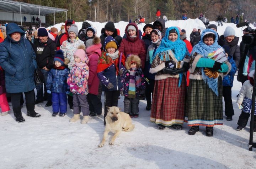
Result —
<svg viewBox="0 0 256 169"><path fill-rule="evenodd" d="M175 42L172 42L168 39L169 31L172 29L175 29L178 34L178 38ZM180 33L177 27L170 27L166 30L166 34L162 39L160 46L156 49L153 59L158 55L161 60L164 60L164 56L168 56L170 50L174 52L174 56L177 60L183 60L185 55L189 55L186 43L180 40ZM166 57L165 62L168 60L170 60L170 58ZM182 75L183 74L181 73L178 87L181 85Z"/></svg>

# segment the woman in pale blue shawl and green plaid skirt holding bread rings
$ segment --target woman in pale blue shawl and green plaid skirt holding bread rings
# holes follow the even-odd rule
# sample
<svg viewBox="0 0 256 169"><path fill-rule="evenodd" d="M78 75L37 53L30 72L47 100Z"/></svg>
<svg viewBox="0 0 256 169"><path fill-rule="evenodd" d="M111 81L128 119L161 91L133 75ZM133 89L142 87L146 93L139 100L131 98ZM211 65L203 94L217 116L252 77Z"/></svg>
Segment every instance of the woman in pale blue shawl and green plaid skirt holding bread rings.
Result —
<svg viewBox="0 0 256 169"><path fill-rule="evenodd" d="M229 73L231 65L228 61L220 63L209 58L215 51L223 51L217 41L217 32L205 29L191 52L185 117L188 126L192 126L189 135L198 132L199 126L206 126L206 136L212 136L213 126L223 124L222 77Z"/></svg>

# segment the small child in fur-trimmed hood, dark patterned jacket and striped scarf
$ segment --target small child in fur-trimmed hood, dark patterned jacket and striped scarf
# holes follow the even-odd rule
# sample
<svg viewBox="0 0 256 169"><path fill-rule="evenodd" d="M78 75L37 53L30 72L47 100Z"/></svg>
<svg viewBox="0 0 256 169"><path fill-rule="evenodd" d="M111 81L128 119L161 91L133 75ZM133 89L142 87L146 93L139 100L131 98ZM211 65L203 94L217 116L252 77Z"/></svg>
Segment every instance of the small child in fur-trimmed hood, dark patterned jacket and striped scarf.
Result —
<svg viewBox="0 0 256 169"><path fill-rule="evenodd" d="M126 59L126 71L121 75L124 96L124 112L130 117L139 117L139 97L145 93L145 80L142 74L141 60L137 55L130 55Z"/></svg>

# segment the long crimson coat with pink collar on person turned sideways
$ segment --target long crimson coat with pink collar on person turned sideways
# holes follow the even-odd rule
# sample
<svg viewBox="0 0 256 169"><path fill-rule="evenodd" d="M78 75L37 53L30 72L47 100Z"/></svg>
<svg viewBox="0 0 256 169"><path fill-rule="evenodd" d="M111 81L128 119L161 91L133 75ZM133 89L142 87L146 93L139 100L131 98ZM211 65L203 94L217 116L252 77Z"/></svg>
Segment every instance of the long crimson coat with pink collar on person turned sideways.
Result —
<svg viewBox="0 0 256 169"><path fill-rule="evenodd" d="M90 70L88 78L89 93L97 95L100 80L98 79L96 70L98 66L98 59L101 54L101 43L87 47L86 53L89 58L88 66Z"/></svg>

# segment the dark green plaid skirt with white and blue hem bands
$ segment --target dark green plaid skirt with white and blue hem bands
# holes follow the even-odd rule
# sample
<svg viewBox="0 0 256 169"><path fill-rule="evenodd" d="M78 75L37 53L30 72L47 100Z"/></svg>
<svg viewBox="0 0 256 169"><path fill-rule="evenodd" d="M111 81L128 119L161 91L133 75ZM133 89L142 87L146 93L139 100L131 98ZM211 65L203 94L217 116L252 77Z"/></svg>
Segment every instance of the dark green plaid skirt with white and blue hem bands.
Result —
<svg viewBox="0 0 256 169"><path fill-rule="evenodd" d="M188 126L223 125L222 78L218 78L217 96L204 80L190 80L185 122Z"/></svg>

